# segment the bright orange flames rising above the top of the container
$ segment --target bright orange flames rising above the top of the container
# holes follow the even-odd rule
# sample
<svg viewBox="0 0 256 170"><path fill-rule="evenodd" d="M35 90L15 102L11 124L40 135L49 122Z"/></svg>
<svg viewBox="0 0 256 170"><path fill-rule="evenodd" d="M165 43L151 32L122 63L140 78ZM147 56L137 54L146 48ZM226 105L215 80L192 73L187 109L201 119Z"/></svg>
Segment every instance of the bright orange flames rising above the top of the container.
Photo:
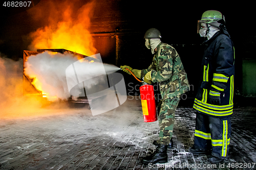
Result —
<svg viewBox="0 0 256 170"><path fill-rule="evenodd" d="M65 2L57 5L59 6L60 4L64 4L63 8L59 9L57 14L54 11L55 13L49 16L49 25L39 28L30 34L32 38L32 43L29 46L30 50L65 48L87 56L96 54L97 50L93 46L93 39L88 31L91 25L90 17L93 12L94 2L85 4L78 10L70 5L70 1L69 4ZM52 6L56 5L53 4ZM77 16L74 17L75 12ZM62 20L59 20L58 15L62 15Z"/></svg>

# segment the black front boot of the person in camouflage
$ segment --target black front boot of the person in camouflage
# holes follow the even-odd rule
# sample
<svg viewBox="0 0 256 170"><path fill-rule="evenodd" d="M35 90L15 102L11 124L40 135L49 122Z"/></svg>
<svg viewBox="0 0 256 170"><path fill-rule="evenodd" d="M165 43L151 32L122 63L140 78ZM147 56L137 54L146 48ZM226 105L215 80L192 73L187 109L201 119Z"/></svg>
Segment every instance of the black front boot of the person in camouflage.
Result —
<svg viewBox="0 0 256 170"><path fill-rule="evenodd" d="M166 163L168 161L167 145L159 144L157 150L150 156L146 156L142 159L142 163Z"/></svg>

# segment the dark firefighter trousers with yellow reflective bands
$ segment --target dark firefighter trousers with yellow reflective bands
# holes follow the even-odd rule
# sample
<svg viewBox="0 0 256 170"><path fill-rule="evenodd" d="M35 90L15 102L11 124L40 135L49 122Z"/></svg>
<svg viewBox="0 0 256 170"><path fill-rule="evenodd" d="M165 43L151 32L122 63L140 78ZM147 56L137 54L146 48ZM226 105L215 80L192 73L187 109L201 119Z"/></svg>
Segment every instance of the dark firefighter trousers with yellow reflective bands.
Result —
<svg viewBox="0 0 256 170"><path fill-rule="evenodd" d="M226 158L231 136L230 116L214 117L197 112L195 148L211 150L211 155Z"/></svg>

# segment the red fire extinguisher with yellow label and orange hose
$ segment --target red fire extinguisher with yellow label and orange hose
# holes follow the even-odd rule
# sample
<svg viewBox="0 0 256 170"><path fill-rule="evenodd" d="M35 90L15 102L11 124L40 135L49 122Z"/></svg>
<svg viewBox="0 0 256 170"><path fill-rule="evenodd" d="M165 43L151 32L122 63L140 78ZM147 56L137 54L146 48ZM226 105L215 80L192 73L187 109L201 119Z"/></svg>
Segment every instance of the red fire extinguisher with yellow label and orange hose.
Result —
<svg viewBox="0 0 256 170"><path fill-rule="evenodd" d="M131 70L125 68L131 72L131 74L141 83L140 86L140 99L141 99L141 106L143 112L144 122L155 122L157 120L157 113L156 113L156 101L155 101L155 94L154 94L154 87L153 85L147 84L144 81L139 80Z"/></svg>

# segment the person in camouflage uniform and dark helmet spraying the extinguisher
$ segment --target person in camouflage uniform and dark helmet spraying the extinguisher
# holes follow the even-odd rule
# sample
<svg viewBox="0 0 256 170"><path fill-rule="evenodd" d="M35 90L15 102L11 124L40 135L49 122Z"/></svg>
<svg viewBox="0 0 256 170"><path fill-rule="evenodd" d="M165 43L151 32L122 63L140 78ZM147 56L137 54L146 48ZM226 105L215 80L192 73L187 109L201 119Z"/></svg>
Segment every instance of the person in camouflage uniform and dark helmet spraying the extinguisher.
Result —
<svg viewBox="0 0 256 170"><path fill-rule="evenodd" d="M181 94L189 91L189 83L183 68L180 56L171 45L162 43L161 34L157 29L149 29L145 33L145 45L154 54L153 62L147 69L137 70L129 66L121 66L121 69L129 74L125 68L130 69L138 78L144 78L144 82L151 84L158 82L162 96L158 120L160 126L159 140L153 143L157 150L145 157L143 163L167 162L167 148L172 148L172 135L175 119L175 111Z"/></svg>

